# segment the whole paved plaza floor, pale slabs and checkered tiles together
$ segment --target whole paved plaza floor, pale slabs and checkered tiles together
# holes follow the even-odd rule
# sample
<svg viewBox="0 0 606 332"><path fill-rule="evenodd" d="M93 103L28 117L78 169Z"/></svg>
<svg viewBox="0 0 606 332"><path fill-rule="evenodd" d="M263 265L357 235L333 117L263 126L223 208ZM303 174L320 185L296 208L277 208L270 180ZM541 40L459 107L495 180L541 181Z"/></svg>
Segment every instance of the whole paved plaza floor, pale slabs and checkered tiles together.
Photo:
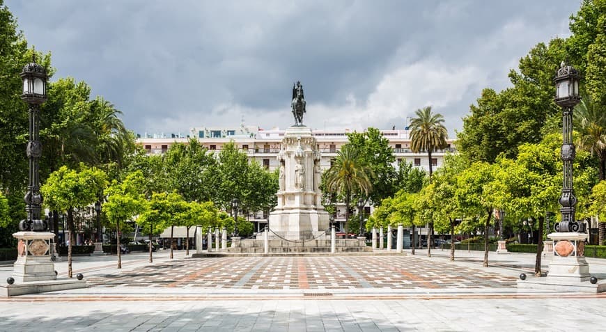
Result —
<svg viewBox="0 0 606 332"><path fill-rule="evenodd" d="M0 299L0 331L606 331L606 295L518 291L534 255L76 257L88 288ZM549 257L543 259L547 269ZM588 259L606 278L606 262ZM57 262L60 277L66 262ZM0 266L0 280L12 265ZM566 315L566 313L575 313Z"/></svg>

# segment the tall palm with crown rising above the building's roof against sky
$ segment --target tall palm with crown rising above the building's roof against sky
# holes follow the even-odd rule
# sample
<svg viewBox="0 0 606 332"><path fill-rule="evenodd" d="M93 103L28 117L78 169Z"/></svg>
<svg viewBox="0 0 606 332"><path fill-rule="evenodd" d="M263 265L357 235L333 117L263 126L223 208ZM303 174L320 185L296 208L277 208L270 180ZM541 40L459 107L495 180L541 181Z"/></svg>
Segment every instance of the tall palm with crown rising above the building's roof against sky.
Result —
<svg viewBox="0 0 606 332"><path fill-rule="evenodd" d="M446 127L442 124L442 122L444 122L444 117L440 113L433 114L431 112L431 106L417 109L414 113L417 117L412 118L412 121L410 122L410 139L412 141L410 150L415 153L427 151L429 159L429 180L431 181L431 174L433 173L431 152L437 149L446 148L448 132L446 131Z"/></svg>

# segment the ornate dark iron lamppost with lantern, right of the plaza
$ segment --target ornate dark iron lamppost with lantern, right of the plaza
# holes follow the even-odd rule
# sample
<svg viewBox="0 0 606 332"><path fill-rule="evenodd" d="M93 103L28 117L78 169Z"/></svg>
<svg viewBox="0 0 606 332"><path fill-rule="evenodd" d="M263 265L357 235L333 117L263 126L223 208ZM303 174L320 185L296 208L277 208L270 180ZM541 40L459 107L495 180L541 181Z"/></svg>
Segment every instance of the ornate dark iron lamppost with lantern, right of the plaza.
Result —
<svg viewBox="0 0 606 332"><path fill-rule="evenodd" d="M573 160L575 145L573 144L573 108L581 101L579 93L579 72L564 61L557 72L554 81L556 96L554 102L562 108L562 148L560 157L564 161L564 182L558 202L561 205L562 219L554 225L556 232L584 232L584 224L575 221L575 205L577 198L573 189Z"/></svg>

